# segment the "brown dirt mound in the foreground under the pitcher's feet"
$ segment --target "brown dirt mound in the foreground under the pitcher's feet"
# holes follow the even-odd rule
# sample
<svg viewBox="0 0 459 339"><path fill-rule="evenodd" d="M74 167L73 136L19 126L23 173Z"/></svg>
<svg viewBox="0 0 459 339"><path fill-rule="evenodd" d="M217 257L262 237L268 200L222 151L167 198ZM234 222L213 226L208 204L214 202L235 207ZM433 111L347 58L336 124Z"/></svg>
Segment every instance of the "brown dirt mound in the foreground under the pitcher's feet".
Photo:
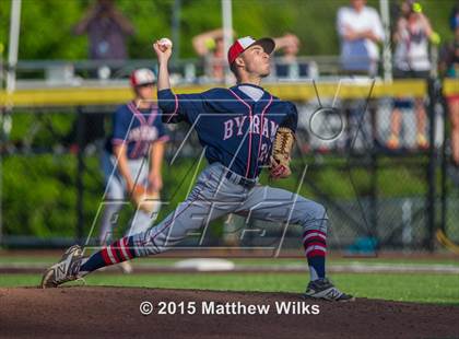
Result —
<svg viewBox="0 0 459 339"><path fill-rule="evenodd" d="M141 315L139 306L143 301L154 305L151 315ZM160 302L166 303L166 312L176 314L160 315ZM180 302L184 302L184 308ZM289 303L290 314L279 314L276 306ZM317 303L292 293L15 288L0 289L0 305L1 338L459 337L459 307L366 299L339 304ZM264 308L267 314L258 311L255 315L234 314L254 311L250 305L269 305L269 308ZM187 314L193 312L193 306L195 314ZM292 306L303 314L293 314ZM185 314L180 314L181 311ZM212 312L215 314L202 314ZM224 315L219 315L220 312ZM319 314L314 314L317 312Z"/></svg>

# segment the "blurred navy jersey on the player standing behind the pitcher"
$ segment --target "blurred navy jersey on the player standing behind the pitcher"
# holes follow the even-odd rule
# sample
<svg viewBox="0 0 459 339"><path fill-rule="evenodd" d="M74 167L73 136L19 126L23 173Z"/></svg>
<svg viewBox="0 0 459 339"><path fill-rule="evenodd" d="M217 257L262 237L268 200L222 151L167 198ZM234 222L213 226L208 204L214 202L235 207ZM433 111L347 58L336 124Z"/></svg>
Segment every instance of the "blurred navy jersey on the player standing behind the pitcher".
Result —
<svg viewBox="0 0 459 339"><path fill-rule="evenodd" d="M130 102L115 112L113 132L107 140L106 150L113 153L114 145L126 143L128 159L139 159L146 156L150 143L167 140L157 106L140 110Z"/></svg>

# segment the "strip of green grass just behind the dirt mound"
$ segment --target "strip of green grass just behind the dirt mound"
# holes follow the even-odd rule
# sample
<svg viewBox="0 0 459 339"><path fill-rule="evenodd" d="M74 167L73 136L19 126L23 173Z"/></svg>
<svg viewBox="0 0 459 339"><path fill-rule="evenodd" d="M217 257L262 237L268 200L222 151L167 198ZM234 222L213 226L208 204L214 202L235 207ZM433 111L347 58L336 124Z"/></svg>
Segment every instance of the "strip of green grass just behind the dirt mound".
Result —
<svg viewBox="0 0 459 339"><path fill-rule="evenodd" d="M357 297L459 306L459 276L454 274L333 274L336 284ZM31 287L38 274L2 274L0 287ZM307 273L155 273L86 277L89 285L294 292L305 289Z"/></svg>

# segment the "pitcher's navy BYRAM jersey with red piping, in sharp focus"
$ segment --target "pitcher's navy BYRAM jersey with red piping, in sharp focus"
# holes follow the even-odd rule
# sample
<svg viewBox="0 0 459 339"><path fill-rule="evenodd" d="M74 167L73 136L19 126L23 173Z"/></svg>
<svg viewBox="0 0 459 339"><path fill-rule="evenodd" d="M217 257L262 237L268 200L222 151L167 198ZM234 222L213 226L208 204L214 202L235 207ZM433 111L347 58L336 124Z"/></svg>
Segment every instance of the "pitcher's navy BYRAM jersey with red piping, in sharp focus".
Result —
<svg viewBox="0 0 459 339"><path fill-rule="evenodd" d="M193 126L209 163L220 162L247 178L258 177L268 163L280 126L296 130L295 105L266 91L257 102L238 86L177 95L163 90L157 100L164 122Z"/></svg>

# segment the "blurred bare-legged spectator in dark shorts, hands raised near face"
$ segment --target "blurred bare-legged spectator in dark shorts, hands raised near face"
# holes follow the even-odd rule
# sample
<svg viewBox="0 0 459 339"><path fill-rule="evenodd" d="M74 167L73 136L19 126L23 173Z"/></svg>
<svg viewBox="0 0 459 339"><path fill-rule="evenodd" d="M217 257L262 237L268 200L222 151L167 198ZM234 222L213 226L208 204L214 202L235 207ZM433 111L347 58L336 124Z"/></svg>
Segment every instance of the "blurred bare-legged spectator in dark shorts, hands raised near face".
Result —
<svg viewBox="0 0 459 339"><path fill-rule="evenodd" d="M401 15L397 21L393 42L396 79L428 79L431 74L431 60L428 56L428 40L434 36L428 19L422 13L422 8L417 2L403 1L401 4ZM400 145L399 135L402 122L401 112L410 108L412 102L407 98L397 98L390 121L390 137L387 147L397 149ZM421 149L428 147L425 136L426 112L424 98L414 98L414 112L416 115L416 143Z"/></svg>

